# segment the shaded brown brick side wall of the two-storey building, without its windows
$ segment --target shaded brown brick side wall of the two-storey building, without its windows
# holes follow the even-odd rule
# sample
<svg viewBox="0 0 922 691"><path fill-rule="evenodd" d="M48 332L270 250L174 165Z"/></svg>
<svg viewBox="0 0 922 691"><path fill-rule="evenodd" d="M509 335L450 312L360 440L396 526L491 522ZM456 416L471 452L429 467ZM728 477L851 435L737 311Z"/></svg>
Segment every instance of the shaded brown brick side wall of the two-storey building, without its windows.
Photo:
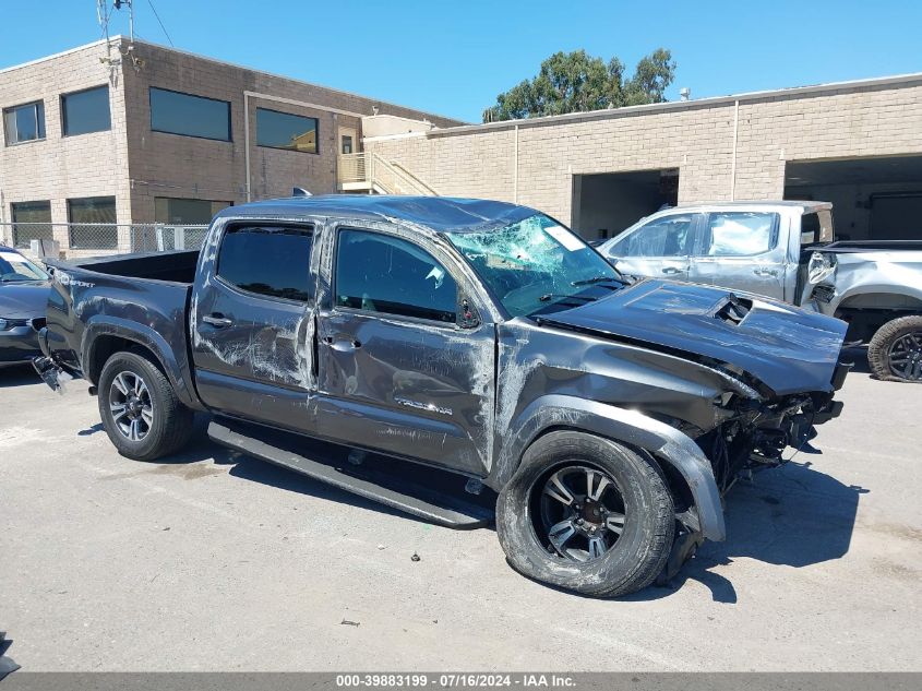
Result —
<svg viewBox="0 0 922 691"><path fill-rule="evenodd" d="M252 200L290 195L292 187L313 194L336 192L338 128L352 128L360 135L361 115L379 112L441 126L458 121L372 98L297 82L264 72L137 41L135 55L144 67L125 68L128 148L133 180L132 217L154 221L156 196L209 199L240 204L247 201L246 138L250 140L250 193ZM231 141L212 141L153 132L151 86L230 103ZM244 92L250 96L249 133L244 132ZM273 98L274 97L274 98ZM319 108L280 103L284 98ZM318 120L319 153L256 146L256 108L268 108Z"/></svg>

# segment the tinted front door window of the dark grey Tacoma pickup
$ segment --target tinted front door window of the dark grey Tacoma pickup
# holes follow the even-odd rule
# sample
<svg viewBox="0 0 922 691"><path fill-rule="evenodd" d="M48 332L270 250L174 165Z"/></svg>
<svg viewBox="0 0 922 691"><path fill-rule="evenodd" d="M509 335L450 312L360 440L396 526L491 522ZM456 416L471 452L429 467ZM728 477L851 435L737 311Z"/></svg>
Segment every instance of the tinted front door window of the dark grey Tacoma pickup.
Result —
<svg viewBox="0 0 922 691"><path fill-rule="evenodd" d="M363 230L340 230L336 305L455 323L457 284L411 242Z"/></svg>

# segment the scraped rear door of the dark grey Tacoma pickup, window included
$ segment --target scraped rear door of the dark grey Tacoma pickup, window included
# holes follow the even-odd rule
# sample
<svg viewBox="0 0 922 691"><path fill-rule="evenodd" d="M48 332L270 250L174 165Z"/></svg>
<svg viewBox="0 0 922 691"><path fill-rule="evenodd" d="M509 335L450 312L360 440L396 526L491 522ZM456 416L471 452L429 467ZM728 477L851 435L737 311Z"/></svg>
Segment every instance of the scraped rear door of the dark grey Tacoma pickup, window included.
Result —
<svg viewBox="0 0 922 691"><path fill-rule="evenodd" d="M199 395L229 415L309 431L313 226L232 223L196 277L191 311Z"/></svg>

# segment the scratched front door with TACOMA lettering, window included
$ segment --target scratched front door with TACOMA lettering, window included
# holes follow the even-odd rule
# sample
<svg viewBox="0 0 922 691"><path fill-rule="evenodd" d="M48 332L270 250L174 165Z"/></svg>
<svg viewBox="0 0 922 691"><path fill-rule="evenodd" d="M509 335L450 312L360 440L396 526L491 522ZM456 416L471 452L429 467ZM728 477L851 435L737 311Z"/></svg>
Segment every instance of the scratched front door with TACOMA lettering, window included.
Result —
<svg viewBox="0 0 922 691"><path fill-rule="evenodd" d="M321 433L486 475L494 330L443 262L396 235L339 228L319 312Z"/></svg>

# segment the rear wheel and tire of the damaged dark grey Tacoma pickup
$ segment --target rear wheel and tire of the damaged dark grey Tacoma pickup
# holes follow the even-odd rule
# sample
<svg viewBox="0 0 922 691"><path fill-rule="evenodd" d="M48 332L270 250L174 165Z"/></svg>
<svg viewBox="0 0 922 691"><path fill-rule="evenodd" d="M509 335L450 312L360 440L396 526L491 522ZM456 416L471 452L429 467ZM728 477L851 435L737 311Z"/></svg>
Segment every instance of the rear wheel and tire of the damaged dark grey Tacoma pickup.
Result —
<svg viewBox="0 0 922 691"><path fill-rule="evenodd" d="M98 392L103 427L128 458L154 461L185 445L192 434L193 412L144 355L112 355L103 367Z"/></svg>

